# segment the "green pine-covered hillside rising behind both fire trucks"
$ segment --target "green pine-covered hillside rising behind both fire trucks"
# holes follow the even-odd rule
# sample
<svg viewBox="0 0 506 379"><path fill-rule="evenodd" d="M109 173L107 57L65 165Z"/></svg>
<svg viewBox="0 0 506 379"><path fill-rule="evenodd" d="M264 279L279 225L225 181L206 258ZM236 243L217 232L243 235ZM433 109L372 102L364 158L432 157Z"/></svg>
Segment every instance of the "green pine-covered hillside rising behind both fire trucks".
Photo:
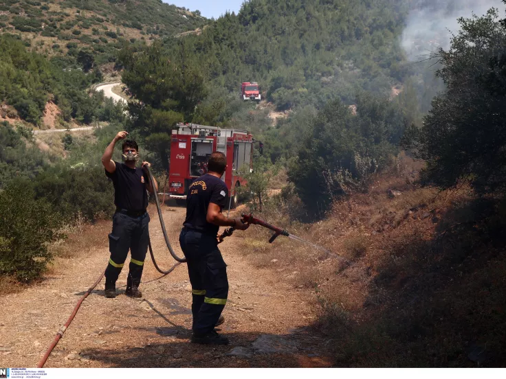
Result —
<svg viewBox="0 0 506 379"><path fill-rule="evenodd" d="M373 154L366 146L382 143L384 151L391 150L387 145L397 143L404 126L421 120L419 97L409 83L412 65L399 45L409 5L400 0L253 0L199 35L166 38L142 49L126 47L120 63L122 80L135 99L130 104L133 129L146 138L162 165L170 130L182 120L246 127L265 142L265 153L274 162L294 157L326 104L360 104L358 116L363 112L362 124L370 127L357 126L353 133L360 137L353 143L360 154L379 159L375 154L381 149ZM265 106L243 104L243 81L259 82L267 102L276 111L289 111L288 117L274 125ZM394 98L387 105L385 100ZM375 107L394 116L380 117L382 125L371 122L375 114L369 115L368 108ZM383 125L394 119L395 126ZM399 128L393 138L386 131L391 127ZM372 145L364 143L371 139L371 128L379 133ZM344 130L336 133L332 138ZM353 148L347 149L339 150L346 157L337 157L331 168L351 168Z"/></svg>

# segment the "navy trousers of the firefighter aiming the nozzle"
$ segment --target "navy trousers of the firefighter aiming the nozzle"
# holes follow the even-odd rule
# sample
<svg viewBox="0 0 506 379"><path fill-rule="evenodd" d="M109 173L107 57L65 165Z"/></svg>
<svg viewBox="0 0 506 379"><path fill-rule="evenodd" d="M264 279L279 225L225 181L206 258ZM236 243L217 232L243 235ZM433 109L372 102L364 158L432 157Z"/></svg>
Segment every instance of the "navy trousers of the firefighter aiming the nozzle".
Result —
<svg viewBox="0 0 506 379"><path fill-rule="evenodd" d="M205 334L214 330L228 297L227 265L216 237L184 228L179 244L188 261L192 285L192 330Z"/></svg>

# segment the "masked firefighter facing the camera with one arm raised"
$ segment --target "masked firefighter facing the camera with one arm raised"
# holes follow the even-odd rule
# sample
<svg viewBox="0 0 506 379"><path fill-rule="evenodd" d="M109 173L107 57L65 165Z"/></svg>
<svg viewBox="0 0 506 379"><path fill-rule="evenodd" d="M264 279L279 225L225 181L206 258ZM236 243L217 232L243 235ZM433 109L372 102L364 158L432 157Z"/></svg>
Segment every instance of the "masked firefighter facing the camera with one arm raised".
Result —
<svg viewBox="0 0 506 379"><path fill-rule="evenodd" d="M139 147L135 141L128 139L124 141L122 146L124 163L111 159L115 144L120 139L125 139L128 134L126 132L118 133L102 156L105 174L113 181L114 204L116 206L113 216L113 230L109 234L111 257L105 271L105 297L116 296L116 280L118 280L129 250L131 260L125 294L130 297L142 297L139 284L149 241L149 215L146 211L148 194L146 190L153 193L153 188L147 178L147 171L135 167L135 163L139 160ZM144 165L150 165L150 163L142 162L142 166ZM158 184L155 181L155 191L157 190Z"/></svg>

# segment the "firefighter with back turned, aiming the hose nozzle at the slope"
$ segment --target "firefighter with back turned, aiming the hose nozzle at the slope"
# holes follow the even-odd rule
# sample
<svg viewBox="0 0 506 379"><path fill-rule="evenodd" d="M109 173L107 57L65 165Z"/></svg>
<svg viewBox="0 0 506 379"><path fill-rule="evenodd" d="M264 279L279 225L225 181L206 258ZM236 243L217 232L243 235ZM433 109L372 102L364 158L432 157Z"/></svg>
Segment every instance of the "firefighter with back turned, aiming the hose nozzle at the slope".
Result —
<svg viewBox="0 0 506 379"><path fill-rule="evenodd" d="M214 327L228 297L226 264L218 249L219 227L246 230L249 225L241 218L226 218L221 213L228 197L228 188L220 179L227 168L225 154L213 152L208 173L195 179L188 188L186 220L179 235L181 249L188 261L192 285L193 343L227 345ZM220 321L220 322L219 322Z"/></svg>

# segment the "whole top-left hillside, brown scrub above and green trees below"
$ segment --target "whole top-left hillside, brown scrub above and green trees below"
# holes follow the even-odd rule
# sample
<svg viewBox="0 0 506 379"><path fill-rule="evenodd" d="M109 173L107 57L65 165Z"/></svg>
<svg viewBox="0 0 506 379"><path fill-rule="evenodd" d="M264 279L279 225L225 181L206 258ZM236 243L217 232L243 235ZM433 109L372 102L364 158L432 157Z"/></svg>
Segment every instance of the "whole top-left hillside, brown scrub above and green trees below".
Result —
<svg viewBox="0 0 506 379"><path fill-rule="evenodd" d="M85 90L102 80L104 63L114 62L125 44L203 23L198 12L157 0L0 1L0 121L46 128L41 117L48 102L60 115L49 127L103 119L103 97Z"/></svg>

